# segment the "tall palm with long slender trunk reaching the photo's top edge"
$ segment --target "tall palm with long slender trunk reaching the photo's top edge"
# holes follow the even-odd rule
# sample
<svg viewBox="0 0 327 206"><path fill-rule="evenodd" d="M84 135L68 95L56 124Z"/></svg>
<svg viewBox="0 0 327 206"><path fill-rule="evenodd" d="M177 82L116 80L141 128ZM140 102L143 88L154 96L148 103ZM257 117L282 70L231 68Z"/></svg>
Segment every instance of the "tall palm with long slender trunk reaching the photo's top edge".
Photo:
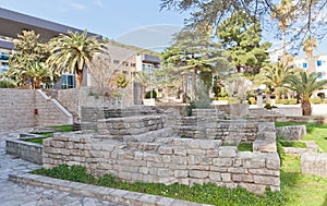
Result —
<svg viewBox="0 0 327 206"><path fill-rule="evenodd" d="M272 10L271 17L278 20L279 29L282 33L282 62L287 61L286 37L287 28L290 26L291 20L294 17L292 0L281 0L280 4Z"/></svg>

